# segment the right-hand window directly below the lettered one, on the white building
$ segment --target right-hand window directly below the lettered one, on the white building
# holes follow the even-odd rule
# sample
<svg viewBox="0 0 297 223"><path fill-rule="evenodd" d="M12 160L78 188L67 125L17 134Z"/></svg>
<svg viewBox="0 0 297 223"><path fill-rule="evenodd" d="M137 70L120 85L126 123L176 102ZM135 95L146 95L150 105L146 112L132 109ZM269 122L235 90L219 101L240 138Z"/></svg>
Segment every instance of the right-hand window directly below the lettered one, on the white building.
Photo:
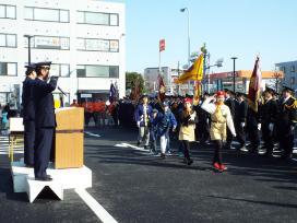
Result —
<svg viewBox="0 0 297 223"><path fill-rule="evenodd" d="M78 66L78 78L119 78L118 66Z"/></svg>

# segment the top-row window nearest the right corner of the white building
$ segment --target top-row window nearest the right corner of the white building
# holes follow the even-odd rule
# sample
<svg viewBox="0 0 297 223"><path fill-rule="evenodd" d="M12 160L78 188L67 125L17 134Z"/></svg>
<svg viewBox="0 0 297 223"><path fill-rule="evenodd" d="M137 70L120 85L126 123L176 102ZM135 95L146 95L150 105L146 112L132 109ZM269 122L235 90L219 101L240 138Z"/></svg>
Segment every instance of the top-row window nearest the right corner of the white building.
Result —
<svg viewBox="0 0 297 223"><path fill-rule="evenodd" d="M118 26L119 15L115 13L78 11L76 22L82 24Z"/></svg>

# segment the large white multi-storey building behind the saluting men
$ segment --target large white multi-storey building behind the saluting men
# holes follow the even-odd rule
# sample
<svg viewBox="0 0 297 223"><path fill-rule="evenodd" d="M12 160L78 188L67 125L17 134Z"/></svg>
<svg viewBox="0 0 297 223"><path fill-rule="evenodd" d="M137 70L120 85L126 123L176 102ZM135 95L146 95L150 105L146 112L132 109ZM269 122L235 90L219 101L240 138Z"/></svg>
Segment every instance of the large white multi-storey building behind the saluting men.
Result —
<svg viewBox="0 0 297 223"><path fill-rule="evenodd" d="M64 103L107 98L111 81L122 97L124 16L123 3L0 0L0 103L20 108L28 39L32 62L52 61L50 74L60 77ZM58 90L55 97L60 97Z"/></svg>

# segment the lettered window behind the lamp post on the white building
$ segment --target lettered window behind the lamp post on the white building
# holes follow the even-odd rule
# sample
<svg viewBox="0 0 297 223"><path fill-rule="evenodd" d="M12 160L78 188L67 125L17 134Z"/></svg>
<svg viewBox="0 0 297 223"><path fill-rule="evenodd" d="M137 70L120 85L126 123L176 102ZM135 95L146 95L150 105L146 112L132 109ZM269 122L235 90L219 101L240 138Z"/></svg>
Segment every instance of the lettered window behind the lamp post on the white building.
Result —
<svg viewBox="0 0 297 223"><path fill-rule="evenodd" d="M25 38L25 47L27 47L27 38ZM31 38L31 45L37 49L70 49L69 37L60 36L34 36Z"/></svg>

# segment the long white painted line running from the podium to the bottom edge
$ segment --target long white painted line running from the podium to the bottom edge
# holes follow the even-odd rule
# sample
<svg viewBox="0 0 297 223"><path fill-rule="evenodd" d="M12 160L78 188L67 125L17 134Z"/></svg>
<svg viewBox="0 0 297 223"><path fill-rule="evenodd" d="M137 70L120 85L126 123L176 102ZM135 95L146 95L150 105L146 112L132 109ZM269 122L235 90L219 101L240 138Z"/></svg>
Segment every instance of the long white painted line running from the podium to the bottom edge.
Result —
<svg viewBox="0 0 297 223"><path fill-rule="evenodd" d="M117 223L117 221L85 189L75 189L75 192L83 199L100 221L106 223Z"/></svg>

